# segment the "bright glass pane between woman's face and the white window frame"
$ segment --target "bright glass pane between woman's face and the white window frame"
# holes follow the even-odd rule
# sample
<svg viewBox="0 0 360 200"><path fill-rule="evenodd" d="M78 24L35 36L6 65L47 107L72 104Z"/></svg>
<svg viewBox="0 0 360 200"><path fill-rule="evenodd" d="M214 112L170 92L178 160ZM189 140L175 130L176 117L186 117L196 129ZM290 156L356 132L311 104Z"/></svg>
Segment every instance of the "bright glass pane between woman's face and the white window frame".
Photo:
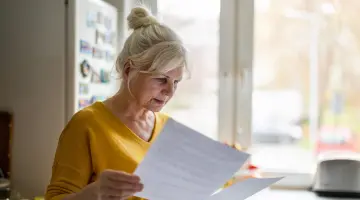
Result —
<svg viewBox="0 0 360 200"><path fill-rule="evenodd" d="M158 0L158 12L190 52L191 79L180 83L165 112L217 139L220 0Z"/></svg>

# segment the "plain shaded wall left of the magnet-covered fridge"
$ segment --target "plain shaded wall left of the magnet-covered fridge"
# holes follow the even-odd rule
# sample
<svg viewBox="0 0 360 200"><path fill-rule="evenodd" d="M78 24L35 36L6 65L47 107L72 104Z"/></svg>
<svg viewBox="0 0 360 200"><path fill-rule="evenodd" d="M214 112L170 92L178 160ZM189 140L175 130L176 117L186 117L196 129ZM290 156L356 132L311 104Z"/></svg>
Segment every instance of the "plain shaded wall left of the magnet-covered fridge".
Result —
<svg viewBox="0 0 360 200"><path fill-rule="evenodd" d="M124 11L123 1L108 1ZM0 7L0 109L15 121L12 184L25 197L43 195L65 124L64 1L3 0Z"/></svg>

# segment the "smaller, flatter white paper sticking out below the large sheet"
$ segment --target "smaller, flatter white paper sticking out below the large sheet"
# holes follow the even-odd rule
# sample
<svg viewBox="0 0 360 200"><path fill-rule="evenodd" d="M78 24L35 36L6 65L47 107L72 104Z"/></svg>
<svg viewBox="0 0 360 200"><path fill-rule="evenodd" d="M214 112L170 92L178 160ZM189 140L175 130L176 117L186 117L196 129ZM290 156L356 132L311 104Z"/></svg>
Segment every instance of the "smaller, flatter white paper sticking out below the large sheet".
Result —
<svg viewBox="0 0 360 200"><path fill-rule="evenodd" d="M214 194L208 200L244 200L281 180L280 178L249 178Z"/></svg>

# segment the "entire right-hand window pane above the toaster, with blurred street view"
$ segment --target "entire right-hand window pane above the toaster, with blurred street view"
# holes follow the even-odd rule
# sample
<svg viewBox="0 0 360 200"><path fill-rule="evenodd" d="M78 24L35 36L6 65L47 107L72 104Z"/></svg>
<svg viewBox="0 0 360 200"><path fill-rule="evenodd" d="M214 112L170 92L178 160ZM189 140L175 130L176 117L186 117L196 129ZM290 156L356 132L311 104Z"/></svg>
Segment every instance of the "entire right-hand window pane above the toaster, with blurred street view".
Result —
<svg viewBox="0 0 360 200"><path fill-rule="evenodd" d="M360 2L256 0L252 140L264 169L359 151Z"/></svg>

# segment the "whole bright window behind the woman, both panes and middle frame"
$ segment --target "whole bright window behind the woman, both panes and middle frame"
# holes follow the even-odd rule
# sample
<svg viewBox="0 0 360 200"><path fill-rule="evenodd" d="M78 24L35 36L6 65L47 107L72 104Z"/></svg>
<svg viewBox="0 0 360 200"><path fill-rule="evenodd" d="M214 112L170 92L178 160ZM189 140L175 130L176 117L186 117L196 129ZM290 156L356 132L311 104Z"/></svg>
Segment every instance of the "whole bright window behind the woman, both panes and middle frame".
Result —
<svg viewBox="0 0 360 200"><path fill-rule="evenodd" d="M265 171L311 174L322 152L360 152L358 0L154 1L190 49L174 118Z"/></svg>

